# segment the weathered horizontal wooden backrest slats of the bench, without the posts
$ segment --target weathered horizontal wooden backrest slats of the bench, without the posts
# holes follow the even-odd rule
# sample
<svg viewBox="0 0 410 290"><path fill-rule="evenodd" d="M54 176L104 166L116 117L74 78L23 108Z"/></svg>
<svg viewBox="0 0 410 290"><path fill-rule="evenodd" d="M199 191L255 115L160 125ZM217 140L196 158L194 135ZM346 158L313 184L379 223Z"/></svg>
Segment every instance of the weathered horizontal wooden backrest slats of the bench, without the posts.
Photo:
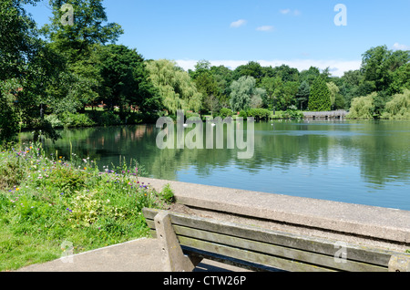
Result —
<svg viewBox="0 0 410 290"><path fill-rule="evenodd" d="M153 219L159 210L143 209L143 213L151 233L156 236ZM346 263L337 263L334 254L338 248L335 248L334 241L227 223L179 212L169 212L169 218L182 246L196 248L198 243L202 251L210 253L220 251L218 254L226 256L233 254L231 257L234 259L256 264L267 263L286 271L325 271L323 269L326 267L327 270L355 272L387 271L392 254L397 254L346 244Z"/></svg>

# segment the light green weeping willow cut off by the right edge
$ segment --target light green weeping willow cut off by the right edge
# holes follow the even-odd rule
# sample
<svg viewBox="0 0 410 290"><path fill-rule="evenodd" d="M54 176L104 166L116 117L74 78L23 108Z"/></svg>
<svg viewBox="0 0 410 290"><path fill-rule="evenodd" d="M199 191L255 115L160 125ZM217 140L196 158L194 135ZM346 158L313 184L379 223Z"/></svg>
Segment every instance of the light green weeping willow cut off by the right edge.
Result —
<svg viewBox="0 0 410 290"><path fill-rule="evenodd" d="M403 94L395 94L385 104L383 119L410 119L410 90L405 89Z"/></svg>

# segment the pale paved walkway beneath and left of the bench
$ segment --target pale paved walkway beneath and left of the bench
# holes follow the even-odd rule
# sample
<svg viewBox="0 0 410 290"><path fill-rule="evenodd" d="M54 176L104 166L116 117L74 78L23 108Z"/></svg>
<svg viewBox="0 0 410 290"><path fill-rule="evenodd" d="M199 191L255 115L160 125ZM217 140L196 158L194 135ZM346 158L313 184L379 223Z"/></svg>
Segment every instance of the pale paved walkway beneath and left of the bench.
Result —
<svg viewBox="0 0 410 290"><path fill-rule="evenodd" d="M138 239L75 254L17 272L163 272L157 239ZM243 269L203 260L196 272L241 272Z"/></svg>

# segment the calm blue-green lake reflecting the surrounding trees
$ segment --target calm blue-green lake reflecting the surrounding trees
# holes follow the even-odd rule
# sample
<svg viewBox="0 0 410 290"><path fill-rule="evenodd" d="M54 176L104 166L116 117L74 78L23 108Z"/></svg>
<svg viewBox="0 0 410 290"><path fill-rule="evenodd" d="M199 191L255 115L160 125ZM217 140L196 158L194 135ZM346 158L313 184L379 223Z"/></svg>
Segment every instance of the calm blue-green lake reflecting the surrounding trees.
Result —
<svg viewBox="0 0 410 290"><path fill-rule="evenodd" d="M101 171L134 160L157 179L410 211L408 121L256 122L253 157L242 160L241 150L226 146L160 150L160 131L155 125L63 129L61 140L42 142L47 154L57 150L67 159L71 146Z"/></svg>

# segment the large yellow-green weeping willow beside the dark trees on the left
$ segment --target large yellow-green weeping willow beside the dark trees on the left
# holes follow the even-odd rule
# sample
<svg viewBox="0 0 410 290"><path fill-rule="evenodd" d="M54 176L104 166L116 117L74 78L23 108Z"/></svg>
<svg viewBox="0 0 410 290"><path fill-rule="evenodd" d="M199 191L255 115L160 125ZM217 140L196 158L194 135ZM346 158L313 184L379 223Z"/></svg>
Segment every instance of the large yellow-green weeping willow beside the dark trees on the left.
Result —
<svg viewBox="0 0 410 290"><path fill-rule="evenodd" d="M146 63L149 78L162 98L162 105L169 113L178 109L199 111L202 94L191 81L190 75L168 59L149 60Z"/></svg>

